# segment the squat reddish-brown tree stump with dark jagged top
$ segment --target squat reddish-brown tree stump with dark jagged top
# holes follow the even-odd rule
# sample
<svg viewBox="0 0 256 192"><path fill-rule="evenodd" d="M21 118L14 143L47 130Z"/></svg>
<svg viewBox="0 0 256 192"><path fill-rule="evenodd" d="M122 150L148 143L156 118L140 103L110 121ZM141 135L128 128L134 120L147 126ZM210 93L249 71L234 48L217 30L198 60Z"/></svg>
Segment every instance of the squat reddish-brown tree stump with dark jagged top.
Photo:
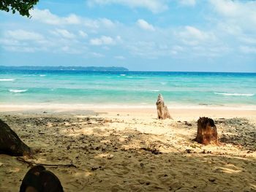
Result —
<svg viewBox="0 0 256 192"><path fill-rule="evenodd" d="M195 141L203 145L218 143L217 128L214 124L214 120L205 117L197 120L197 137Z"/></svg>

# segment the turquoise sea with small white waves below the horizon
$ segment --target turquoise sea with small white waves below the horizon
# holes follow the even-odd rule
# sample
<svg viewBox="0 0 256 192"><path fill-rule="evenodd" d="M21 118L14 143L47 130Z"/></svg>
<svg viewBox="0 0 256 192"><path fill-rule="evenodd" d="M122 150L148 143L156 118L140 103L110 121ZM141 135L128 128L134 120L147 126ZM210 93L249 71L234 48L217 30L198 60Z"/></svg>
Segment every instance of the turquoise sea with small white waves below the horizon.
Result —
<svg viewBox="0 0 256 192"><path fill-rule="evenodd" d="M256 74L0 71L0 104L256 105Z"/></svg>

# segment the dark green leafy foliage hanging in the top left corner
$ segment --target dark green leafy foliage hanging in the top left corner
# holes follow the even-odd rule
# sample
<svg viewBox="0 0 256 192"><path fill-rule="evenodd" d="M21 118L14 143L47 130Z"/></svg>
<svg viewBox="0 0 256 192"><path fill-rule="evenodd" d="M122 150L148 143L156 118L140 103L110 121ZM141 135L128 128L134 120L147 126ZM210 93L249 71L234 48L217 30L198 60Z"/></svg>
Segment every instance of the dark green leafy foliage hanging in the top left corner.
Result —
<svg viewBox="0 0 256 192"><path fill-rule="evenodd" d="M29 10L37 4L39 0L0 0L0 9L6 12L12 11L14 14L16 11L20 15L30 17Z"/></svg>

